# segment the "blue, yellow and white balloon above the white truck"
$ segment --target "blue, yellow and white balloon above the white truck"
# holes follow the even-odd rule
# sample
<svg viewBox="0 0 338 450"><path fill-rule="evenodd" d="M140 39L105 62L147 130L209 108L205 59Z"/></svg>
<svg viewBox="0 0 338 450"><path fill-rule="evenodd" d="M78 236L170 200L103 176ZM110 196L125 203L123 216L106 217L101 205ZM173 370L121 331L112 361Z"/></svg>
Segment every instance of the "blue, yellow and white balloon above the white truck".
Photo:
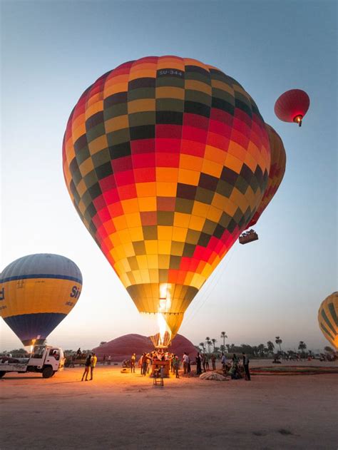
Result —
<svg viewBox="0 0 338 450"><path fill-rule="evenodd" d="M68 258L21 257L1 272L1 317L25 346L43 344L76 305L81 287L81 272Z"/></svg>

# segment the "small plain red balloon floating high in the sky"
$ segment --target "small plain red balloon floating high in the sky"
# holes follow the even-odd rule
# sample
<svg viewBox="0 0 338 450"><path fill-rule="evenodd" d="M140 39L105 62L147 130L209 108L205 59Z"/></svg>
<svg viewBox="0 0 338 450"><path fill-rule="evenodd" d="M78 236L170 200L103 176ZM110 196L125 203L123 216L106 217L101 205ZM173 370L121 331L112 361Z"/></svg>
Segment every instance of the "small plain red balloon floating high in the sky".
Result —
<svg viewBox="0 0 338 450"><path fill-rule="evenodd" d="M275 103L275 114L283 122L296 122L302 126L302 119L309 109L309 96L302 89L291 89L282 93Z"/></svg>

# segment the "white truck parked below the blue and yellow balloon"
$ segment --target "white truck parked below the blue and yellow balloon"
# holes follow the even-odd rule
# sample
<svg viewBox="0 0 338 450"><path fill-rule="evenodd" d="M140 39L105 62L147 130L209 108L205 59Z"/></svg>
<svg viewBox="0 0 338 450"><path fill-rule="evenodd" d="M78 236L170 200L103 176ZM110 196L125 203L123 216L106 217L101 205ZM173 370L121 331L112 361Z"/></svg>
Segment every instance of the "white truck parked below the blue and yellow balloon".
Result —
<svg viewBox="0 0 338 450"><path fill-rule="evenodd" d="M12 358L11 355L0 357L0 378L9 372L38 372L43 378L50 378L63 369L65 359L59 347L38 345L26 358Z"/></svg>

